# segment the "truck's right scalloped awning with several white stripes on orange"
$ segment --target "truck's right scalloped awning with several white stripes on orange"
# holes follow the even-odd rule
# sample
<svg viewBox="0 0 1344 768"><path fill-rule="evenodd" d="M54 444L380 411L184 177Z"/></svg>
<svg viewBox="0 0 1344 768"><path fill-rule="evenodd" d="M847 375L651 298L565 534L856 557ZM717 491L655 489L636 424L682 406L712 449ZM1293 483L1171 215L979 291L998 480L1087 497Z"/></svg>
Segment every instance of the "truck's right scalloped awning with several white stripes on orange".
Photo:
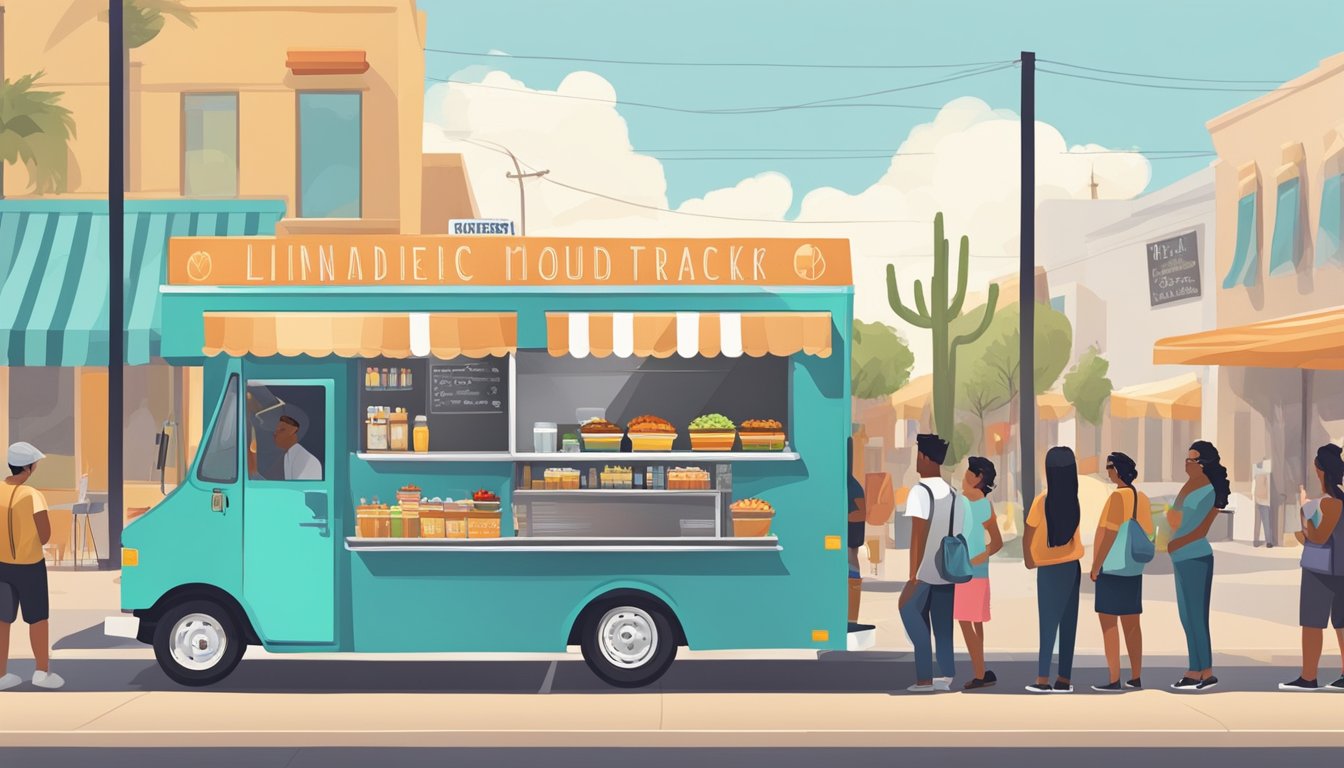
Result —
<svg viewBox="0 0 1344 768"><path fill-rule="evenodd" d="M548 312L552 356L831 356L829 312Z"/></svg>

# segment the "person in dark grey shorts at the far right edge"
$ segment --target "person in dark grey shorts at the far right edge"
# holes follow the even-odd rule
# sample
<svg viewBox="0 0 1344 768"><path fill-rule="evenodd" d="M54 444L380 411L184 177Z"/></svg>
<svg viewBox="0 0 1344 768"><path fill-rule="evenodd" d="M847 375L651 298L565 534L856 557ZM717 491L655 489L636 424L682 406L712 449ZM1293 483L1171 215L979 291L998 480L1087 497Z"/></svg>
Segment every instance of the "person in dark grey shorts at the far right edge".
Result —
<svg viewBox="0 0 1344 768"><path fill-rule="evenodd" d="M1302 593L1298 619L1302 625L1302 674L1290 683L1279 683L1278 690L1344 693L1344 671L1328 686L1318 686L1316 675L1321 666L1325 628L1335 627L1335 636L1344 656L1344 535L1340 534L1340 514L1344 512L1344 451L1328 444L1316 451L1316 477L1321 483L1321 499L1302 508L1302 530L1297 541L1304 546L1329 546L1332 557L1329 573L1302 568ZM1304 565L1306 565L1304 562ZM1344 664L1344 662L1341 662Z"/></svg>

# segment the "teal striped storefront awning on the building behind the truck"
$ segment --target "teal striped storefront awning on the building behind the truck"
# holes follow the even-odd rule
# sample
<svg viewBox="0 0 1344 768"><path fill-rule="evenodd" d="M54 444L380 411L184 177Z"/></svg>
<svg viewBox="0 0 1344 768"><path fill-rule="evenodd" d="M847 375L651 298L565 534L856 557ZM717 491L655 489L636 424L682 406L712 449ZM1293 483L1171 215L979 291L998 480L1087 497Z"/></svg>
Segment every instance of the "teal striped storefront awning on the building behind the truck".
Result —
<svg viewBox="0 0 1344 768"><path fill-rule="evenodd" d="M126 363L159 355L168 238L269 235L284 200L126 200ZM108 364L106 200L0 200L0 364Z"/></svg>

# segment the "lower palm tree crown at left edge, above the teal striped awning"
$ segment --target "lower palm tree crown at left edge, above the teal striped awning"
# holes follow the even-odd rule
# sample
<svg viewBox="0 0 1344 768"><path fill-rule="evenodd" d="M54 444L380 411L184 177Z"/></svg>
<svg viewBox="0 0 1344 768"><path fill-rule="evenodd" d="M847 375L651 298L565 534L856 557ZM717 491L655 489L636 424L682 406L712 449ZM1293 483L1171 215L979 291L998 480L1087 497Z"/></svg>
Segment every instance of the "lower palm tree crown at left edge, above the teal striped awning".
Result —
<svg viewBox="0 0 1344 768"><path fill-rule="evenodd" d="M39 195L66 190L70 139L75 135L74 117L59 104L62 93L34 89L43 74L0 83L0 161L23 163Z"/></svg>

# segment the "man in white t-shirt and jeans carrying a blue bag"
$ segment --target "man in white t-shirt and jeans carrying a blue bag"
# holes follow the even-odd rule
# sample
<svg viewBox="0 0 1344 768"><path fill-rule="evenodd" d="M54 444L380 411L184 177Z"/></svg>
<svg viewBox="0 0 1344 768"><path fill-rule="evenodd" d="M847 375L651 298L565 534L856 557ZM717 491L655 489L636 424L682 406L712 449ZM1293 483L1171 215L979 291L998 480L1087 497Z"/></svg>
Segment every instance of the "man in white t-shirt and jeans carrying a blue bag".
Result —
<svg viewBox="0 0 1344 768"><path fill-rule="evenodd" d="M907 690L946 691L952 690L952 679L956 677L952 644L956 585L938 573L934 558L949 531L953 535L961 533L964 507L961 498L942 479L948 443L937 434L921 434L917 440L919 455L915 469L919 472L919 484L910 490L906 499L906 516L911 523L910 581L900 590L900 620L915 650L917 681ZM933 675L933 646L938 648L938 677Z"/></svg>

